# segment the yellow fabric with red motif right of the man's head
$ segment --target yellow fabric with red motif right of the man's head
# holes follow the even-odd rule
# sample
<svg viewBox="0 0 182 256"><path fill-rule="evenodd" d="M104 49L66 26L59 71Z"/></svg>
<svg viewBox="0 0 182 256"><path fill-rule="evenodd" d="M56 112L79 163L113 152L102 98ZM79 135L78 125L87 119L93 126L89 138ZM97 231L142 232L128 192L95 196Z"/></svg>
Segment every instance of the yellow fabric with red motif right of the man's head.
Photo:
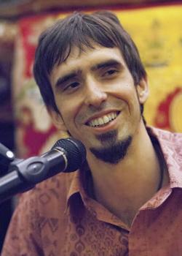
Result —
<svg viewBox="0 0 182 256"><path fill-rule="evenodd" d="M182 132L182 7L116 12L138 46L149 78L148 124Z"/></svg>

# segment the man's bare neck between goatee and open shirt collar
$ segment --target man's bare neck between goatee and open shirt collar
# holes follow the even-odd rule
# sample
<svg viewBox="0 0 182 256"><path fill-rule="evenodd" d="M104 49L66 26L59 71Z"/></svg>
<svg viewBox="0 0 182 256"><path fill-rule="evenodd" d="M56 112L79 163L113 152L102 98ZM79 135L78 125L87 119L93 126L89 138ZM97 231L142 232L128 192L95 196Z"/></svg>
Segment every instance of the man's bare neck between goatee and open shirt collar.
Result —
<svg viewBox="0 0 182 256"><path fill-rule="evenodd" d="M133 137L126 157L108 165L88 157L95 199L131 225L135 214L159 189L161 166L146 129Z"/></svg>

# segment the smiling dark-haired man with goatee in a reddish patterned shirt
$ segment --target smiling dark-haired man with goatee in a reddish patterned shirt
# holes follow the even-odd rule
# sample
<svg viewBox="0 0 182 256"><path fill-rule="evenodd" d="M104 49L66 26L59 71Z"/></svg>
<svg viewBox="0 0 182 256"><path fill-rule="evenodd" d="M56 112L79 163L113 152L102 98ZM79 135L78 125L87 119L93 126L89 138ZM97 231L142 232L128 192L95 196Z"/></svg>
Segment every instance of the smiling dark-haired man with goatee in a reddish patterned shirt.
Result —
<svg viewBox="0 0 182 256"><path fill-rule="evenodd" d="M59 20L41 34L33 70L87 162L23 195L2 256L181 255L182 135L146 127L146 71L116 16Z"/></svg>

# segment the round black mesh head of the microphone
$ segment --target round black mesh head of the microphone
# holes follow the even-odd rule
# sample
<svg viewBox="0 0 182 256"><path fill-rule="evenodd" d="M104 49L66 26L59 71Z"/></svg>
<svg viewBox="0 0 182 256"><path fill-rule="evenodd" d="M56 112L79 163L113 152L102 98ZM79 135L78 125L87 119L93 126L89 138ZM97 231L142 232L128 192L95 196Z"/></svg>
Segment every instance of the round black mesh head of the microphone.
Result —
<svg viewBox="0 0 182 256"><path fill-rule="evenodd" d="M54 148L58 148L58 150L60 148L60 150L66 153L66 159L68 161L68 166L64 170L66 173L79 169L86 159L84 144L74 138L60 139L52 147L52 149Z"/></svg>

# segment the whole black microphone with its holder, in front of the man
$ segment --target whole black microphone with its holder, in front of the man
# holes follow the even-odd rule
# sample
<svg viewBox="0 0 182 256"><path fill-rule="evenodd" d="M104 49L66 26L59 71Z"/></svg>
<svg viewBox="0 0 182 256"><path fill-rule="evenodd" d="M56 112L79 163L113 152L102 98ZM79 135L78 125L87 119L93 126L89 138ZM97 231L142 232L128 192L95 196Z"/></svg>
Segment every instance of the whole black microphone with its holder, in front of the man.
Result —
<svg viewBox="0 0 182 256"><path fill-rule="evenodd" d="M0 178L0 202L61 172L73 172L86 159L86 149L74 138L58 140L50 151L40 157L15 159L9 173Z"/></svg>

